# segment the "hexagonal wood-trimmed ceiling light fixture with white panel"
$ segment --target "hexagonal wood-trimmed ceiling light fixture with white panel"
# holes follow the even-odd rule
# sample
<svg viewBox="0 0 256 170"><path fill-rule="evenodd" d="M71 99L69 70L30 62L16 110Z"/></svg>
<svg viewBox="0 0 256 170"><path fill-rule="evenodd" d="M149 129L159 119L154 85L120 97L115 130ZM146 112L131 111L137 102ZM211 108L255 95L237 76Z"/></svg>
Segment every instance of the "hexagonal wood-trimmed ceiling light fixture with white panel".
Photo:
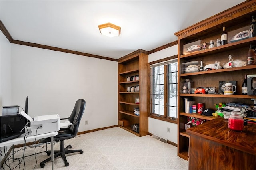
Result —
<svg viewBox="0 0 256 170"><path fill-rule="evenodd" d="M121 27L116 26L110 22L99 25L100 33L108 37L115 37L121 34Z"/></svg>

